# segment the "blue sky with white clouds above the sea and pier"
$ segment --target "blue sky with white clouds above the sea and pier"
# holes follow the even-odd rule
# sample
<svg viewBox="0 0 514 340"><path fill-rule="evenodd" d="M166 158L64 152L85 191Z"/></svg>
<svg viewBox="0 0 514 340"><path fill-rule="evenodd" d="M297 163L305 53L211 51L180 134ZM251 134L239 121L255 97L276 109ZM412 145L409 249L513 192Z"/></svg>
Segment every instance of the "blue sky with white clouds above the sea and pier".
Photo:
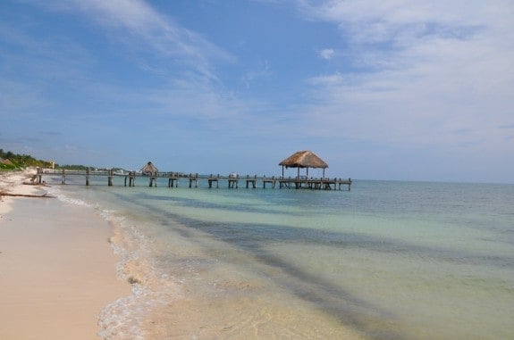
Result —
<svg viewBox="0 0 514 340"><path fill-rule="evenodd" d="M3 0L0 148L267 176L311 150L329 177L514 183L512 18L511 0Z"/></svg>

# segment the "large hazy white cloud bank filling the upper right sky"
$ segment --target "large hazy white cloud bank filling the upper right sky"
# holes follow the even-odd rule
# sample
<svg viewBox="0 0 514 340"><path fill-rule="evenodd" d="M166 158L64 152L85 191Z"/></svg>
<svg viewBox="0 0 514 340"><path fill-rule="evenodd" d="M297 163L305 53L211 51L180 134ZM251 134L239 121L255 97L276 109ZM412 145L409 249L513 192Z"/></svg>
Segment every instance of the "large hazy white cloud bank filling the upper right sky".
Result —
<svg viewBox="0 0 514 340"><path fill-rule="evenodd" d="M300 2L309 20L341 29L357 71L310 79L326 136L512 153L514 4ZM455 133L466 131L466 133Z"/></svg>

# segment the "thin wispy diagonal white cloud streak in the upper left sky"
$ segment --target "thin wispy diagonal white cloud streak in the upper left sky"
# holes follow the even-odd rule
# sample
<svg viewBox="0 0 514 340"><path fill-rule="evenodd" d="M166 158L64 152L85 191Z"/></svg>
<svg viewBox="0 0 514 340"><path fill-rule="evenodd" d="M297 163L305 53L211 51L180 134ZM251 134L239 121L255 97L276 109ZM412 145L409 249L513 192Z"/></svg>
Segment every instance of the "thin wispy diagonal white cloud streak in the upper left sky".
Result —
<svg viewBox="0 0 514 340"><path fill-rule="evenodd" d="M234 61L231 54L142 0L72 0L67 5L38 4L55 11L81 12L108 30L109 37L117 39L117 43L124 44L126 52L146 53L149 49L156 58L161 58L163 64L170 60L179 61L206 79L217 80L213 62ZM141 67L147 66L142 64Z"/></svg>

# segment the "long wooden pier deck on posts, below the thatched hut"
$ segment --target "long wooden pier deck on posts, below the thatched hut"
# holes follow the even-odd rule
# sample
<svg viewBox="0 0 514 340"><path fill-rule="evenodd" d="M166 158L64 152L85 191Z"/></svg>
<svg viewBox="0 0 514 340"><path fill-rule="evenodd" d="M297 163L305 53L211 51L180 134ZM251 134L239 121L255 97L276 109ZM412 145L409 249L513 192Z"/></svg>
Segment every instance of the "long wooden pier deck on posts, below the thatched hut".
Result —
<svg viewBox="0 0 514 340"><path fill-rule="evenodd" d="M33 176L32 181L35 183L42 183L43 177L46 176L61 176L61 184L66 184L66 178L69 177L83 177L85 179L86 186L90 185L91 178L106 178L107 186L114 186L114 178L123 178L123 187L135 187L136 179L146 180L148 183L148 187L157 187L157 179L158 178L167 178L168 179L168 187L179 187L179 182L184 181L189 183L189 187L198 187L199 181L205 181L207 183L207 187L213 188L219 187L219 183L221 181L225 181L230 189L239 188L240 182L244 183L247 189L253 188L256 189L259 185L262 185L262 188L265 189L266 185L271 188L275 188L278 183L278 187L280 189L309 189L309 190L341 190L341 187L348 187L348 191L351 188L351 178L308 178L304 176L299 177L258 177L249 176L240 177L239 175L231 175L231 176L220 176L217 175L198 175L189 174L184 175L176 172L156 172L151 175L143 175L141 173L131 171L124 173L116 173L113 170L108 171L89 171L89 170L38 170L37 174Z"/></svg>

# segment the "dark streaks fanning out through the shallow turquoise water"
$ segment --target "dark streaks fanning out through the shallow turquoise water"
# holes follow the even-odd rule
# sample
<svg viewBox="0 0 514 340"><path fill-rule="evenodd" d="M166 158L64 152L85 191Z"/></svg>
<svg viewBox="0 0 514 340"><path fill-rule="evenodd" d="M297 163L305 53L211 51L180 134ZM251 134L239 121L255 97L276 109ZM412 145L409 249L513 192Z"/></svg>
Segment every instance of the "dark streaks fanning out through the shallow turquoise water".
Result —
<svg viewBox="0 0 514 340"><path fill-rule="evenodd" d="M123 201L132 202L125 195L117 195ZM148 200L172 200L179 202L180 205L191 205L199 208L212 208L230 211L251 211L265 212L265 209L252 208L248 205L241 207L234 205L223 205L217 203L205 203L189 198L176 198L170 196L145 195ZM132 202L133 203L133 202ZM398 203L399 208L402 202ZM386 204L387 205L387 204ZM273 276L279 286L288 287L292 294L309 303L314 303L322 311L330 313L347 325L364 332L369 338L376 339L401 339L403 336L397 331L390 330L389 326L394 325L395 316L391 311L383 310L373 303L351 294L340 286L333 286L323 278L310 274L291 262L284 261L274 254L267 253L265 246L270 243L302 245L324 245L337 249L358 248L366 249L378 253L393 253L405 257L416 256L426 261L447 261L454 264L480 264L494 266L501 269L514 268L514 261L511 257L483 255L469 251L457 251L443 247L428 247L423 245L412 245L403 241L391 239L384 240L376 236L363 236L349 232L324 231L316 228L291 228L283 225L268 225L259 223L227 223L227 222L206 222L186 218L173 211L159 209L149 203L140 202L139 206L147 209L149 215L164 216L169 220L162 220L161 223L166 228L173 228L174 232L181 236L193 238L194 233L190 230L200 230L217 240L238 247L239 249L251 253L258 261L270 268L280 269L283 275ZM380 203L377 205L380 209ZM386 209L387 208L387 209ZM178 207L177 209L180 209ZM388 211L388 207L383 208ZM443 208L441 208L443 209ZM311 209L312 211L312 209ZM279 212L277 212L279 213ZM173 224L173 221L185 227ZM193 239L194 241L194 239ZM206 249L206 251L209 251ZM217 256L215 249L210 249L214 257ZM383 327L370 326L369 319L380 320L378 325Z"/></svg>

